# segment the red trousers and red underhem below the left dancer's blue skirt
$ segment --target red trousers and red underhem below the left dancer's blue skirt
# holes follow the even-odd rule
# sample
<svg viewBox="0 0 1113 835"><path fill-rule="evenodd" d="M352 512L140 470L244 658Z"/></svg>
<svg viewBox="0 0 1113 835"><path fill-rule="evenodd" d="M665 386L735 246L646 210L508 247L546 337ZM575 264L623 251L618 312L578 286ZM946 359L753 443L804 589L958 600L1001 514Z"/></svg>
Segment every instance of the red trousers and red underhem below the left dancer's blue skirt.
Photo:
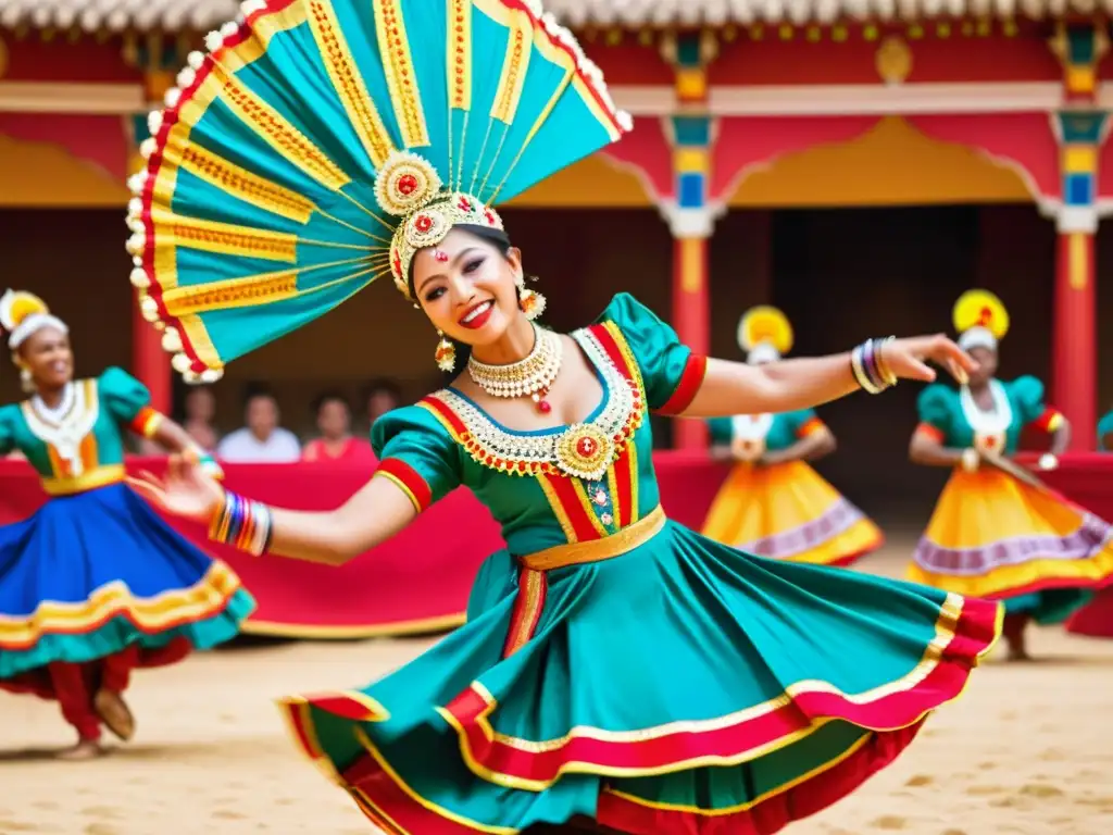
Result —
<svg viewBox="0 0 1113 835"><path fill-rule="evenodd" d="M140 667L165 667L189 655L190 645L177 638L157 650L127 649L96 661L68 664L55 661L12 680L0 681L0 688L12 692L31 692L58 701L62 718L77 730L83 740L100 739L100 717L93 699L100 689L124 692L131 682L131 670Z"/></svg>

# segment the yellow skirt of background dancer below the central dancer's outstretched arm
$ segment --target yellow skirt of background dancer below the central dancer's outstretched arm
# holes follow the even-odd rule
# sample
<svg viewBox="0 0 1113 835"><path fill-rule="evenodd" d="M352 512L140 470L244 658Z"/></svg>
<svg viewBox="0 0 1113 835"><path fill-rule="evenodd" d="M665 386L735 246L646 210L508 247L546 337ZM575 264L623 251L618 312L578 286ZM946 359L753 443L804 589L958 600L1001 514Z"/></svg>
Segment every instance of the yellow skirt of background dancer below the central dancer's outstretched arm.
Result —
<svg viewBox="0 0 1113 835"><path fill-rule="evenodd" d="M885 541L802 461L737 464L711 504L703 536L760 557L820 566L848 566Z"/></svg>

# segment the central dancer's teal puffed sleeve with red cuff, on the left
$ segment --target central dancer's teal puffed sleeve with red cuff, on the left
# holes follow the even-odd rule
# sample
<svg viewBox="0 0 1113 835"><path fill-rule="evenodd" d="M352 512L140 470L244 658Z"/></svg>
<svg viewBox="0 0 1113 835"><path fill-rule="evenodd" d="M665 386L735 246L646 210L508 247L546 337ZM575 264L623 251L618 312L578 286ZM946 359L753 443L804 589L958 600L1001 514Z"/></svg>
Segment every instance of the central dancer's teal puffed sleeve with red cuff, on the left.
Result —
<svg viewBox="0 0 1113 835"><path fill-rule="evenodd" d="M397 484L421 513L460 487L460 448L423 405L387 412L371 429L375 475Z"/></svg>

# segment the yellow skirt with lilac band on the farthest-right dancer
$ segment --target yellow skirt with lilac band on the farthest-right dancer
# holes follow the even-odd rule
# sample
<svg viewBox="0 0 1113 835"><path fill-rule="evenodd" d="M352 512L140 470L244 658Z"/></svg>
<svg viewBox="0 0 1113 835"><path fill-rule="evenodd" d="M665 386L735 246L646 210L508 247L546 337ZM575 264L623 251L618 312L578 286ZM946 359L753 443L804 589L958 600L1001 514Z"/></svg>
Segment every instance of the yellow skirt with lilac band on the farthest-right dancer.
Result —
<svg viewBox="0 0 1113 835"><path fill-rule="evenodd" d="M1113 579L1110 524L999 470L955 471L908 578L1056 623Z"/></svg>

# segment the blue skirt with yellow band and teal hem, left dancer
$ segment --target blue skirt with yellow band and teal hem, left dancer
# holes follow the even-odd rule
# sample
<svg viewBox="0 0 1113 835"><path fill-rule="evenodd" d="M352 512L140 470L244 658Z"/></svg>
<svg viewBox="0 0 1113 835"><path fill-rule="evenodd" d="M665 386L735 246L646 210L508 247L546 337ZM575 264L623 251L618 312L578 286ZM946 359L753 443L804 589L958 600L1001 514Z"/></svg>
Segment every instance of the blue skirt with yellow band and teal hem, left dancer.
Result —
<svg viewBox="0 0 1113 835"><path fill-rule="evenodd" d="M235 637L255 601L239 578L125 484L53 498L0 528L0 687L51 697L55 661L139 648L139 666Z"/></svg>

